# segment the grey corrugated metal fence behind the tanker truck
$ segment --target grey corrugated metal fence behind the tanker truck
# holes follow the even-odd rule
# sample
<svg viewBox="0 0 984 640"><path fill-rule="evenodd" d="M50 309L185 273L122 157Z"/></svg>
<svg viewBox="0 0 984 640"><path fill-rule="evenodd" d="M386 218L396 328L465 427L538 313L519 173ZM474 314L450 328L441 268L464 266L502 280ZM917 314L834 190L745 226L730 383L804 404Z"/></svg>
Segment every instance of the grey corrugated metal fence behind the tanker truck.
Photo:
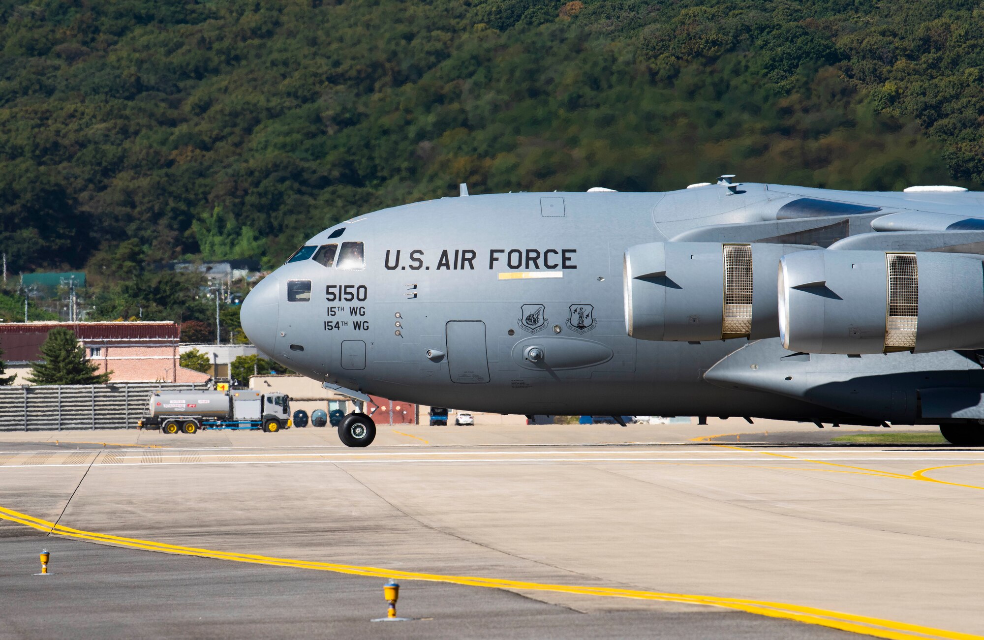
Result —
<svg viewBox="0 0 984 640"><path fill-rule="evenodd" d="M156 382L0 387L0 431L136 427L137 420L150 413L151 392L206 388Z"/></svg>

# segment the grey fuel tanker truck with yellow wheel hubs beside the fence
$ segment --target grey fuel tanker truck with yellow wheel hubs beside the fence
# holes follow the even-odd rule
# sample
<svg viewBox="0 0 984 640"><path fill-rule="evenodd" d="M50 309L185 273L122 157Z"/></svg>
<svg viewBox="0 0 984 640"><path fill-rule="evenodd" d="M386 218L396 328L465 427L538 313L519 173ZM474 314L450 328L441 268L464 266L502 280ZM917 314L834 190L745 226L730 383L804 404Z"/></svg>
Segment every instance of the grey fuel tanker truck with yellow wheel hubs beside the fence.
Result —
<svg viewBox="0 0 984 640"><path fill-rule="evenodd" d="M290 426L290 398L259 391L157 391L141 428L163 433L199 429L263 429L274 433Z"/></svg>

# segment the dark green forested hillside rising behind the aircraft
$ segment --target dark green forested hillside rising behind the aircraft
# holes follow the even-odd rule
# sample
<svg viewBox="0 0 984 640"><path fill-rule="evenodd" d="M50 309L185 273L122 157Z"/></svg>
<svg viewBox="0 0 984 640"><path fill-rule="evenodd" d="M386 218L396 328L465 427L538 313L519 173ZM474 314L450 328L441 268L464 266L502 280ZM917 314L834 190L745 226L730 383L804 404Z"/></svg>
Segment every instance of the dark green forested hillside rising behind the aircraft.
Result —
<svg viewBox="0 0 984 640"><path fill-rule="evenodd" d="M978 5L0 0L0 248L138 299L461 181L976 187Z"/></svg>

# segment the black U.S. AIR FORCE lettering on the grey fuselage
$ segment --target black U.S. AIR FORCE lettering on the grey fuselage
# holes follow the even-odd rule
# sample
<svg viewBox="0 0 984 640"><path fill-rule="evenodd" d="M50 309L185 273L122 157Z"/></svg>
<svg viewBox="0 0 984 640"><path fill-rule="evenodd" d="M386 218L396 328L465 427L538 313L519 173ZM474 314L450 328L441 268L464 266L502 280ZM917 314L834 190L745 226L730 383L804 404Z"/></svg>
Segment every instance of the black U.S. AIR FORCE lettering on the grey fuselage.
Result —
<svg viewBox="0 0 984 640"><path fill-rule="evenodd" d="M401 250L387 249L386 268L390 271L397 269L429 271L431 265L428 262L433 264L433 255L436 253L436 250L431 252L432 259L429 261L423 249L412 249L405 256L406 263L401 264ZM577 249L489 249L488 268L490 270L577 269L578 265L574 264L576 253L578 253ZM472 249L442 249L434 269L435 271L440 269L474 271L477 258L478 253ZM482 262L479 263L479 269L481 267Z"/></svg>

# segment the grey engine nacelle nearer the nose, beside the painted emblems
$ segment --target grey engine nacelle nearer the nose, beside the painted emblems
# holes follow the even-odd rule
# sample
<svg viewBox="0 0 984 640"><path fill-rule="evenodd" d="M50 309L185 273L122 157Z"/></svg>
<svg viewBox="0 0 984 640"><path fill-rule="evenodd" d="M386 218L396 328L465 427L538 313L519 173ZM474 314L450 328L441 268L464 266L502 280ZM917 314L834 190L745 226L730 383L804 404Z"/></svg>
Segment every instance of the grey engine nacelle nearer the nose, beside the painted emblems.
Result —
<svg viewBox="0 0 984 640"><path fill-rule="evenodd" d="M774 338L779 258L797 244L651 242L625 252L626 332L639 340Z"/></svg>

